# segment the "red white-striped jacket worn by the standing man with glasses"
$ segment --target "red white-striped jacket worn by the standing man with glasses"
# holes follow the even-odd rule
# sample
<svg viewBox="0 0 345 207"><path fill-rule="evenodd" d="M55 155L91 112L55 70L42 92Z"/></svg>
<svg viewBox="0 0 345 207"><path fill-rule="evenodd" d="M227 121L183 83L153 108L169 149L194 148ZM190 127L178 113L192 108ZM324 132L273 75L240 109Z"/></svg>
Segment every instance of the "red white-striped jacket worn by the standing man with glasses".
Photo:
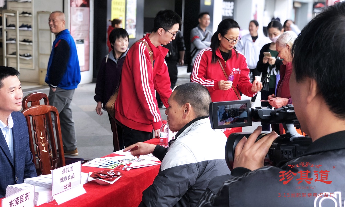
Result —
<svg viewBox="0 0 345 207"><path fill-rule="evenodd" d="M168 49L152 45L149 34L141 40L146 41L153 52L154 68L152 70L149 51L144 43L134 43L122 66L115 118L129 128L151 132L162 125L155 89L164 106L169 107L168 98L172 91L164 60Z"/></svg>

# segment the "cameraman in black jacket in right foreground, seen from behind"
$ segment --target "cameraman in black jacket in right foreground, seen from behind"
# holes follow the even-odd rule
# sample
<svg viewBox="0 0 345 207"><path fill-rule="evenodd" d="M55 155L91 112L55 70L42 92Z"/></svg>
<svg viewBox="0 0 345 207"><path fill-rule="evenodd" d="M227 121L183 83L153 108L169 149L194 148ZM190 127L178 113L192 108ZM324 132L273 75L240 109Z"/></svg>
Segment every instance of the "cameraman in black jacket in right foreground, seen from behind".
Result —
<svg viewBox="0 0 345 207"><path fill-rule="evenodd" d="M258 127L235 148L231 175L210 181L197 206L344 206L345 2L312 19L292 48L290 93L313 143L305 154L265 166L275 132ZM250 198L250 199L248 199Z"/></svg>

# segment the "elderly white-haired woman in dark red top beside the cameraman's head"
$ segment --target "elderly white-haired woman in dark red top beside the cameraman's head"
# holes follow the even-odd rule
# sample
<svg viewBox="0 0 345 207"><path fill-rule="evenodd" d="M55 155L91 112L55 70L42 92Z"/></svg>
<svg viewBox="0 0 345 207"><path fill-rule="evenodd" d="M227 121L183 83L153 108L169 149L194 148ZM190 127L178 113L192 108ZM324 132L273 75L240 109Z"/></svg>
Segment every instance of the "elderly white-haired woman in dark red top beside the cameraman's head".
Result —
<svg viewBox="0 0 345 207"><path fill-rule="evenodd" d="M268 96L268 103L274 108L280 108L287 104L292 104L289 81L292 73L291 48L296 38L297 35L295 32L286 31L280 35L276 42L276 50L279 53L278 56L284 60L283 65L280 66L280 80L277 85L277 95L272 94ZM279 128L281 128L279 130L280 134L283 134L283 126L280 126Z"/></svg>

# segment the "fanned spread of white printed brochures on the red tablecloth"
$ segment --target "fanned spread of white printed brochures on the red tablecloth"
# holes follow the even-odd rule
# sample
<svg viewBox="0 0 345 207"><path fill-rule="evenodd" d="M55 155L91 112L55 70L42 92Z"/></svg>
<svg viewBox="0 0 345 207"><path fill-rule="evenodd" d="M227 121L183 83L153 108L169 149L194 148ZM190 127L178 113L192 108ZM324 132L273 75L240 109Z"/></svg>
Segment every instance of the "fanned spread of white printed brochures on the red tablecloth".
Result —
<svg viewBox="0 0 345 207"><path fill-rule="evenodd" d="M128 156L116 156L93 159L83 166L98 167L106 169L118 169L118 170L130 170L133 168L148 167L153 165L159 165L159 162L149 159L136 158L132 155Z"/></svg>

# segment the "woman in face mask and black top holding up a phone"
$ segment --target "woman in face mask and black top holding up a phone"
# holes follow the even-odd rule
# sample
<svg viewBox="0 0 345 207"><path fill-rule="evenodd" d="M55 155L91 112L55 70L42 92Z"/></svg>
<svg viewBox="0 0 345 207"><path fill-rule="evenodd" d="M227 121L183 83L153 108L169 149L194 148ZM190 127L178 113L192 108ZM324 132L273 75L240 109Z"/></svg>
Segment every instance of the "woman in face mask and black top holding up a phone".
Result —
<svg viewBox="0 0 345 207"><path fill-rule="evenodd" d="M278 57L278 52L276 51L276 41L278 37L283 33L283 26L278 21L271 21L267 26L268 37L272 41L262 47L259 54L259 61L256 65L256 69L259 72L262 72L263 79L267 74L273 75L269 81L269 90L261 91L261 100L266 100L269 95L275 93L275 76L279 74L280 66L283 64L283 61ZM264 52L270 52L272 57L264 56ZM261 102L261 106L268 106L272 109L272 106L268 102ZM263 131L269 131L270 125L268 124L262 126Z"/></svg>

